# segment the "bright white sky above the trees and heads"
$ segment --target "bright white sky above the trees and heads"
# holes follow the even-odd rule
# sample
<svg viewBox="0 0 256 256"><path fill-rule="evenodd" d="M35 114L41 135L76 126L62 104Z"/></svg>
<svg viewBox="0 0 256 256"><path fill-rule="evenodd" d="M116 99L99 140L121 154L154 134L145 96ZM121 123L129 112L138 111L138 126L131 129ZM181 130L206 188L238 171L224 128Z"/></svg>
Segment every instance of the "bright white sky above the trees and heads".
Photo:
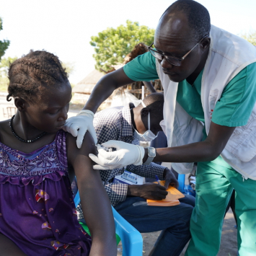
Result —
<svg viewBox="0 0 256 256"><path fill-rule="evenodd" d="M0 0L4 30L0 40L11 41L5 57L21 57L30 49L48 50L64 63L74 63L69 76L76 84L94 70L92 35L125 25L130 19L156 28L173 0ZM198 0L206 6L211 24L239 35L256 30L256 0Z"/></svg>

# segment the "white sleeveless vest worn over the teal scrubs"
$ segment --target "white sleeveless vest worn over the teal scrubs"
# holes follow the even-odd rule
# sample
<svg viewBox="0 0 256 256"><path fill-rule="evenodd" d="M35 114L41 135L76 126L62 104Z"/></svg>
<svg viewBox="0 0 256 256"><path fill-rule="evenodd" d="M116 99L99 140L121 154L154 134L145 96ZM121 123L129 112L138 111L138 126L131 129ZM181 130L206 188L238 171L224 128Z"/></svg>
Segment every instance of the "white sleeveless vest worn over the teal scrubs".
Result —
<svg viewBox="0 0 256 256"><path fill-rule="evenodd" d="M246 66L256 62L256 48L246 40L213 25L210 37L211 45L201 87L207 134L211 114L226 84ZM182 146L201 141L202 123L188 115L176 102L178 83L169 80L158 61L156 71L164 88L164 120L161 125L167 136L168 146ZM234 130L221 157L244 178L256 180L256 104L247 125ZM188 173L192 170L193 163L172 163L172 167L179 173Z"/></svg>

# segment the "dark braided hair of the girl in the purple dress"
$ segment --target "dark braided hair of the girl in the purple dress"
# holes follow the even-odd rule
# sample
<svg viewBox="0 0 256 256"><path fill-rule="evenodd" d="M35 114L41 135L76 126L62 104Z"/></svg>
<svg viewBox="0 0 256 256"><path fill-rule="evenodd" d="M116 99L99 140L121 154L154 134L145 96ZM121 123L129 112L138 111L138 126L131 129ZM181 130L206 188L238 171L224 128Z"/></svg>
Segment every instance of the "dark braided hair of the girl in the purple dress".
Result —
<svg viewBox="0 0 256 256"><path fill-rule="evenodd" d="M10 65L8 76L7 101L12 100L10 97L22 97L31 102L40 97L40 87L50 89L69 81L58 57L45 50L30 50L18 58Z"/></svg>

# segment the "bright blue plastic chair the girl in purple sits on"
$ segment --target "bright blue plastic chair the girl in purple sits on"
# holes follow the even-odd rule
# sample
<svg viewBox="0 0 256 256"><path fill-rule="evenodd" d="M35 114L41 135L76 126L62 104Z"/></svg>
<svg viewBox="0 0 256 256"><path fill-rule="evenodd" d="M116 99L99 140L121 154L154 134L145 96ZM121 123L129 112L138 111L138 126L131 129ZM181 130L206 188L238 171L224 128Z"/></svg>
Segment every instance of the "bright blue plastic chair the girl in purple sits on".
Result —
<svg viewBox="0 0 256 256"><path fill-rule="evenodd" d="M80 203L79 191L76 193L74 203L76 207ZM122 242L123 256L142 256L143 239L141 233L123 219L113 207L112 212L115 220L115 233L118 234Z"/></svg>

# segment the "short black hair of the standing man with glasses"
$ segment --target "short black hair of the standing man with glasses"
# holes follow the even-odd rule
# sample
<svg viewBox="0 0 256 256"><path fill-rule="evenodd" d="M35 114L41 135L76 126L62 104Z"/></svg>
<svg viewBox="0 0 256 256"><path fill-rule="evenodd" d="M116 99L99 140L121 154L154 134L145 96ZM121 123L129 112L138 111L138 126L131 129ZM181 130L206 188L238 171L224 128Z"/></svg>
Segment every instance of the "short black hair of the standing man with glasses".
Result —
<svg viewBox="0 0 256 256"><path fill-rule="evenodd" d="M211 30L210 14L205 6L193 0L177 0L167 8L165 13L183 12L193 32L193 38L198 43ZM164 16L163 14L163 16Z"/></svg>

